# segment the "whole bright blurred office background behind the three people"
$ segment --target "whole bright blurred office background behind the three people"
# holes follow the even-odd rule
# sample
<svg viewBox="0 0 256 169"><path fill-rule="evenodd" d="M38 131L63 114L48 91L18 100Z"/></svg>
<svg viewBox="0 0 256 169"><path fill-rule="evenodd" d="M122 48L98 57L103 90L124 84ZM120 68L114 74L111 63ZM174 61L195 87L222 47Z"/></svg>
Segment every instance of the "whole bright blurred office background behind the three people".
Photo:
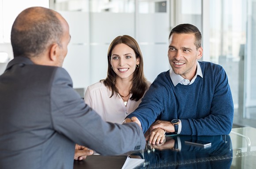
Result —
<svg viewBox="0 0 256 169"><path fill-rule="evenodd" d="M54 9L68 21L72 38L63 67L81 97L87 86L105 79L107 50L116 36L138 41L153 82L170 68L170 30L196 25L203 35L201 60L222 65L228 75L234 124L256 127L256 0L0 0L0 74L13 58L11 25L31 6Z"/></svg>

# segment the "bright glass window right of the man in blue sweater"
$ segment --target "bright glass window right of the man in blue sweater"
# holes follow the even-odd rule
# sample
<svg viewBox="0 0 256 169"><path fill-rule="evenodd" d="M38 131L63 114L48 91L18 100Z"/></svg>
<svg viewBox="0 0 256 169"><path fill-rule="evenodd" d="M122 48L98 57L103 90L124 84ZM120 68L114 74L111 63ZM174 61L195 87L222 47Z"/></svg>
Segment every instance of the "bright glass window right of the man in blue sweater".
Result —
<svg viewBox="0 0 256 169"><path fill-rule="evenodd" d="M210 61L226 70L242 126L256 120L255 19L256 0L210 0Z"/></svg>

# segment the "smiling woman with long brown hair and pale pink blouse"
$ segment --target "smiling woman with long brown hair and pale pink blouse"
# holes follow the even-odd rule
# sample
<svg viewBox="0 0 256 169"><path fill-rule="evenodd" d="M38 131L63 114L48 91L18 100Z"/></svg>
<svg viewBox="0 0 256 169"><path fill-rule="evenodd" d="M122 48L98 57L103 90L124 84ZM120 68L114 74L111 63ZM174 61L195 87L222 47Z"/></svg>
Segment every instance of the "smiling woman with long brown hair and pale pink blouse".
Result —
<svg viewBox="0 0 256 169"><path fill-rule="evenodd" d="M138 107L151 83L143 73L139 44L131 36L117 36L107 57L106 79L88 86L84 100L103 120L122 123Z"/></svg>

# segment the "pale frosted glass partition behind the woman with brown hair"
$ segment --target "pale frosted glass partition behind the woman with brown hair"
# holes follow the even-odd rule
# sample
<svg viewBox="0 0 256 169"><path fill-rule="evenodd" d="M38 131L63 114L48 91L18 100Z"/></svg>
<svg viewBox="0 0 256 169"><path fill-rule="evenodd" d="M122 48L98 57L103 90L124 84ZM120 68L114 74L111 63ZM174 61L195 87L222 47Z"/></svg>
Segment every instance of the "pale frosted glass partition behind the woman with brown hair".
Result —
<svg viewBox="0 0 256 169"><path fill-rule="evenodd" d="M75 88L105 79L109 44L120 35L139 43L149 81L169 69L169 0L51 0L50 4L70 26L72 38L63 67Z"/></svg>

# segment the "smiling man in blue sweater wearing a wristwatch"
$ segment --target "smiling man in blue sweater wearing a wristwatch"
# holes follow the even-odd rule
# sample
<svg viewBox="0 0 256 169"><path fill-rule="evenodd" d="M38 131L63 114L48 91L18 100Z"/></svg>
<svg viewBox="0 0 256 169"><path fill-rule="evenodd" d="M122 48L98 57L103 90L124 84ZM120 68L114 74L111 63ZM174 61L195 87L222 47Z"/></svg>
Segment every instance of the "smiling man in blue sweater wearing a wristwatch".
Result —
<svg viewBox="0 0 256 169"><path fill-rule="evenodd" d="M183 135L229 134L233 99L226 72L202 58L201 33L190 24L169 35L171 69L160 73L139 107L124 122L136 122L150 133L150 143L162 143L165 133ZM153 123L153 124L152 124Z"/></svg>

